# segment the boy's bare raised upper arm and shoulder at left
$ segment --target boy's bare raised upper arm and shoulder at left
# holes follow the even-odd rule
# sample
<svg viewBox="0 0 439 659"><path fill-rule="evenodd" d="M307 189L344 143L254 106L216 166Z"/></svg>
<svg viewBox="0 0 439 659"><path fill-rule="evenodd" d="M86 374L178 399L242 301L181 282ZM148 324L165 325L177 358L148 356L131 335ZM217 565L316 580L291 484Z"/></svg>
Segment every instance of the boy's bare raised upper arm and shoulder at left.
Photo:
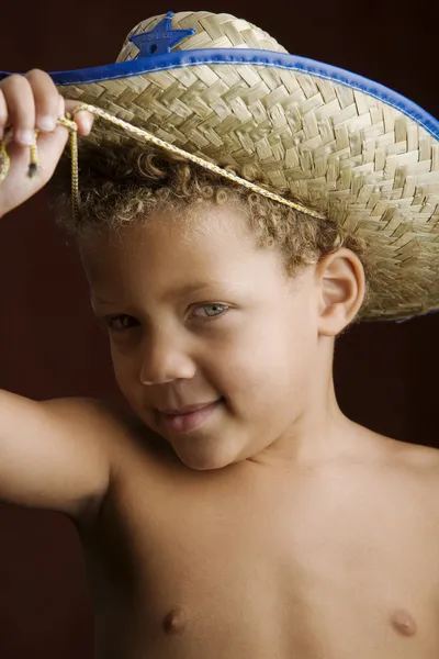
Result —
<svg viewBox="0 0 439 659"><path fill-rule="evenodd" d="M132 429L122 410L85 398L0 391L0 501L92 517Z"/></svg>

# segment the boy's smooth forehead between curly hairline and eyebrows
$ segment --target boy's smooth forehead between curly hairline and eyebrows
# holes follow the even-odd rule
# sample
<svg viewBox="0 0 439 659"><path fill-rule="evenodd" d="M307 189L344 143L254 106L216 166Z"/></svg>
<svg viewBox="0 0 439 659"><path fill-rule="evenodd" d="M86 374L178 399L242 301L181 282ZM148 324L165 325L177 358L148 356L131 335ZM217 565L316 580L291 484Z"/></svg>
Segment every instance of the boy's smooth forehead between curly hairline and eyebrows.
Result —
<svg viewBox="0 0 439 659"><path fill-rule="evenodd" d="M80 249L97 291L133 289L142 282L154 282L154 288L170 294L203 287L235 289L248 280L254 284L271 279L268 269L277 260L256 247L254 234L233 212L211 212L180 223L175 216L156 216L114 236L82 241Z"/></svg>

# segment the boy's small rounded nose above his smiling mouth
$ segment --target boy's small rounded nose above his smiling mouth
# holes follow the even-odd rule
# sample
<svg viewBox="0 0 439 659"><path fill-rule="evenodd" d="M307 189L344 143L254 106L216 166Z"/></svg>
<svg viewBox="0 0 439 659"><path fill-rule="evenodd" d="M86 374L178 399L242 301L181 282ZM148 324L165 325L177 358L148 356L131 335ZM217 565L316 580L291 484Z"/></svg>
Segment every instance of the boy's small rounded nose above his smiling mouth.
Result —
<svg viewBox="0 0 439 659"><path fill-rule="evenodd" d="M176 339L164 333L150 336L142 347L139 380L142 384L164 384L172 380L193 378L196 367L193 358Z"/></svg>

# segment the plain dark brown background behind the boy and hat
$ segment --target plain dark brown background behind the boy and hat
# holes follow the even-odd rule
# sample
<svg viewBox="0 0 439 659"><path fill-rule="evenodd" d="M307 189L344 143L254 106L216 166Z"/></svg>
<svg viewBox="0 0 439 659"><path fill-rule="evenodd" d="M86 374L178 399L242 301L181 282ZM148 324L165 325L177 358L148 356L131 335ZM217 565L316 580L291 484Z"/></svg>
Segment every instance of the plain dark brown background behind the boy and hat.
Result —
<svg viewBox="0 0 439 659"><path fill-rule="evenodd" d="M268 10L270 8L270 11ZM0 69L48 71L114 62L140 20L172 9L224 11L262 26L291 53L392 87L439 116L432 0L257 3L175 0L8 2ZM116 396L105 338L93 324L75 252L44 192L0 227L0 387L35 399ZM439 446L439 314L353 327L336 356L344 411L403 440ZM91 659L92 612L80 546L61 515L0 505L0 657Z"/></svg>

